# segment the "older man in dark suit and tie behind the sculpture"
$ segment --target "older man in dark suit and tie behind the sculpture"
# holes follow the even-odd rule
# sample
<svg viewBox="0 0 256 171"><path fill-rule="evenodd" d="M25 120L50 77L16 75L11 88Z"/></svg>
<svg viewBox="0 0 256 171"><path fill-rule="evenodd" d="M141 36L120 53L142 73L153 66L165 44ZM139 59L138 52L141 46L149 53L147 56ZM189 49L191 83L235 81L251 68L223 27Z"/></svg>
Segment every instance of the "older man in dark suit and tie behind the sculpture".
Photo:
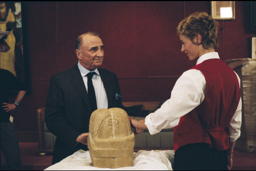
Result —
<svg viewBox="0 0 256 171"><path fill-rule="evenodd" d="M75 42L78 64L51 78L45 105L45 123L56 136L52 164L79 149L88 150L89 121L94 110L122 107L116 74L100 68L103 48L97 33L88 32L78 36ZM88 74L92 72L96 106L92 105L88 96Z"/></svg>

